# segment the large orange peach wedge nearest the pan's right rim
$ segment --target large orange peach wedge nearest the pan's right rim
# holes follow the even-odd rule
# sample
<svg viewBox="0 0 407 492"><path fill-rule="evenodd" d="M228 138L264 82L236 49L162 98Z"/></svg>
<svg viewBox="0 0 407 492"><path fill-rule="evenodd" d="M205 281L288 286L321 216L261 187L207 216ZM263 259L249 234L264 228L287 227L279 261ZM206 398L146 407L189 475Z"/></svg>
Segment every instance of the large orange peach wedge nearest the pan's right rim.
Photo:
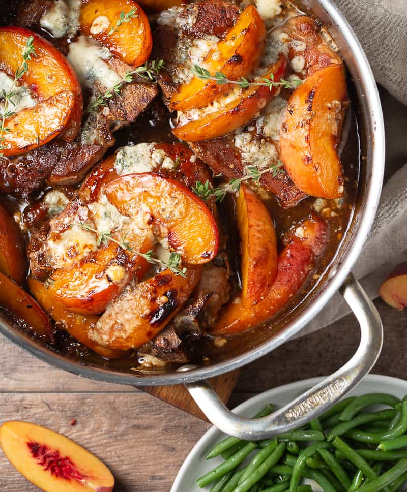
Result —
<svg viewBox="0 0 407 492"><path fill-rule="evenodd" d="M290 178L308 195L343 195L337 147L346 105L346 81L338 64L307 77L288 101L280 129L280 155Z"/></svg>

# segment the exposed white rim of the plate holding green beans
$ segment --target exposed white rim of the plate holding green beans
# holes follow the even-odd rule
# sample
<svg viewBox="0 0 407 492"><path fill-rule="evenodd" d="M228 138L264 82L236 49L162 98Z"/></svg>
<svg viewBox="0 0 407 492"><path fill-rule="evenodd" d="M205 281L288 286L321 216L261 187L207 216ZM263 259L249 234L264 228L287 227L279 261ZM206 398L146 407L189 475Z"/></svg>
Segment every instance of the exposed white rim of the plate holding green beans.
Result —
<svg viewBox="0 0 407 492"><path fill-rule="evenodd" d="M322 379L324 378L305 379L270 389L242 403L234 409L234 412L245 417L252 417L268 403L275 404L277 408L283 407ZM347 396L359 396L364 393L390 393L402 398L407 394L407 381L369 374ZM225 434L221 433L220 430L212 427L199 439L180 468L175 482L172 484L171 492L199 492L210 489L210 486L205 489L199 488L195 480L222 463L221 457L206 460L205 455L225 437ZM316 485L313 487L315 491L321 490Z"/></svg>

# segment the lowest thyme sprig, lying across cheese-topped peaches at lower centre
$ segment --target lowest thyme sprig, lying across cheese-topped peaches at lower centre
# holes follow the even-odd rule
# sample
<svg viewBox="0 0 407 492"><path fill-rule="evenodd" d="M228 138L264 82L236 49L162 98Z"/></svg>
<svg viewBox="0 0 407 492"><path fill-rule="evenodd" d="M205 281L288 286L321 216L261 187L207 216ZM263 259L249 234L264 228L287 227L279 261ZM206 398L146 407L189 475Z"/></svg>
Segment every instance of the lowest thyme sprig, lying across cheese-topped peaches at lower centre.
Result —
<svg viewBox="0 0 407 492"><path fill-rule="evenodd" d="M176 275L180 275L184 278L186 277L185 273L187 269L185 267L184 268L180 267L181 255L179 253L172 252L169 255L168 261L159 260L158 258L155 258L153 250L149 250L146 253L141 253L141 251L137 251L131 248L130 242L126 240L128 233L125 234L123 238L119 241L118 239L115 239L113 237L111 231L98 231L97 229L95 229L94 227L92 227L90 224L86 222L74 223L73 225L77 225L85 231L91 231L94 232L95 234L98 234L98 238L96 240L96 244L98 246L100 246L100 244L108 244L109 241L114 242L115 244L120 246L123 250L131 251L132 253L142 256L149 263L152 264L158 263L160 265L165 266L166 268L169 268L172 271L172 273L175 273Z"/></svg>

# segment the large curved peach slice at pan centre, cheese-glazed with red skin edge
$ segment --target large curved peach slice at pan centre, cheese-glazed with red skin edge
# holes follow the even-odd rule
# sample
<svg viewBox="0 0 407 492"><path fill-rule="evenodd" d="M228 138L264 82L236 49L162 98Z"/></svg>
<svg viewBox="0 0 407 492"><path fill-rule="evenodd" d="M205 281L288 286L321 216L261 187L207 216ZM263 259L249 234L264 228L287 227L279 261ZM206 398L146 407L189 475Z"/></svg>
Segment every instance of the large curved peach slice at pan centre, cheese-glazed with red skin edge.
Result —
<svg viewBox="0 0 407 492"><path fill-rule="evenodd" d="M158 174L127 174L105 187L120 213L145 221L189 264L211 261L219 245L218 228L205 203L177 181Z"/></svg>

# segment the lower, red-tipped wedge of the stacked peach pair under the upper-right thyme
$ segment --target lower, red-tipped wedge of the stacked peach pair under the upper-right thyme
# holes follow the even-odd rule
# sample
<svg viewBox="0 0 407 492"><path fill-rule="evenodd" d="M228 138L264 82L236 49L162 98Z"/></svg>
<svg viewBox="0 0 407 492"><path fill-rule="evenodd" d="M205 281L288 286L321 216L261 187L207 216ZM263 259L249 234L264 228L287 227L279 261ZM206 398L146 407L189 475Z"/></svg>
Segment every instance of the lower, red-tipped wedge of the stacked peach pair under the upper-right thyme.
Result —
<svg viewBox="0 0 407 492"><path fill-rule="evenodd" d="M274 77L278 82L285 75L287 59L280 54L278 61L273 64L261 78ZM244 127L249 121L256 118L262 109L273 99L276 88L266 86L250 86L246 89L226 94L201 110L181 113L177 126L172 133L180 140L198 142L221 137L238 128Z"/></svg>

